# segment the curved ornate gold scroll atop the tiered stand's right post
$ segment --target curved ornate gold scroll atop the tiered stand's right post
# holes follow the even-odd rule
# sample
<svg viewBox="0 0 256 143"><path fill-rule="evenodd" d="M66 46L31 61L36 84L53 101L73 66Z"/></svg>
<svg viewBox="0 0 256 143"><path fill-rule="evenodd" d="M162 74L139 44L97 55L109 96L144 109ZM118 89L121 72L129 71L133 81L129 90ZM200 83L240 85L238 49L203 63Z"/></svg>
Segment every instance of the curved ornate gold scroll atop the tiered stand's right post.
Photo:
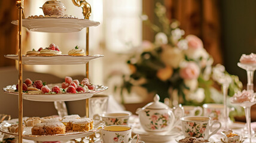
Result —
<svg viewBox="0 0 256 143"><path fill-rule="evenodd" d="M89 19L90 15L92 13L91 5L88 2L86 2L86 0L72 0L72 2L77 7L82 7L84 18Z"/></svg>

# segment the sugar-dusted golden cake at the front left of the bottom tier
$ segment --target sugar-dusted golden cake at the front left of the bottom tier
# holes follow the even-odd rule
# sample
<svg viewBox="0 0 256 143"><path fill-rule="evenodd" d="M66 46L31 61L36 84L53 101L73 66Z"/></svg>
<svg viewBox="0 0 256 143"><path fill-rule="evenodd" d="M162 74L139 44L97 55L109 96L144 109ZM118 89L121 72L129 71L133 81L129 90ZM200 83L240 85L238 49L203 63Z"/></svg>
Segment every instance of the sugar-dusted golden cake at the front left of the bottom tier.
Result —
<svg viewBox="0 0 256 143"><path fill-rule="evenodd" d="M56 135L65 134L63 123L38 123L31 129L32 135Z"/></svg>

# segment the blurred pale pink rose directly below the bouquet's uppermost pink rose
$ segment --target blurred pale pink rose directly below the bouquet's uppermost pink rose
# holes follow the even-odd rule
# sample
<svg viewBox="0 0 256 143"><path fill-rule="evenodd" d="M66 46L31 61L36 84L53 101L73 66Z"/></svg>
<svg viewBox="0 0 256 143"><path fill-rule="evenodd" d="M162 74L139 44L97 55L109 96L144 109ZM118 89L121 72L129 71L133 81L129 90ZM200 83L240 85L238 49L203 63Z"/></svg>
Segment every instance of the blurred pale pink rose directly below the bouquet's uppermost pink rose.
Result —
<svg viewBox="0 0 256 143"><path fill-rule="evenodd" d="M200 69L193 61L188 62L185 67L182 67L181 70L179 70L179 74L183 79L197 79L199 73Z"/></svg>

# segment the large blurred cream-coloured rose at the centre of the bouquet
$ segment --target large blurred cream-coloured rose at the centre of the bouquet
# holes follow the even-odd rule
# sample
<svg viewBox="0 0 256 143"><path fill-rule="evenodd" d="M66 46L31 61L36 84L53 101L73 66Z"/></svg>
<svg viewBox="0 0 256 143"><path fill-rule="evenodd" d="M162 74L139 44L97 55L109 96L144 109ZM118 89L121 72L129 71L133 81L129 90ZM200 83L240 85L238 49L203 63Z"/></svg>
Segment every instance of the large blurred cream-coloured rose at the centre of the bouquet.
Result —
<svg viewBox="0 0 256 143"><path fill-rule="evenodd" d="M167 66L174 69L179 67L179 63L184 60L184 53L179 48L172 48L170 45L163 45L163 52L161 52L161 61Z"/></svg>

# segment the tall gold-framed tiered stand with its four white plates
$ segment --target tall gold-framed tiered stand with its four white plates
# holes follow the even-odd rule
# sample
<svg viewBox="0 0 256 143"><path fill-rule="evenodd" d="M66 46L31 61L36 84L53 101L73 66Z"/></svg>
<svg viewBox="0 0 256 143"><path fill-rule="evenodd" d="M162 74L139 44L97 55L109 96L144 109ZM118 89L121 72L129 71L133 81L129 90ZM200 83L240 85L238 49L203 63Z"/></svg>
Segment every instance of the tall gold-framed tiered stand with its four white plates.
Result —
<svg viewBox="0 0 256 143"><path fill-rule="evenodd" d="M16 6L19 13L19 19L13 21L13 24L17 24L18 26L18 55L13 56L6 56L8 58L12 58L14 60L19 61L19 143L22 143L22 138L30 139L33 141L58 141L62 139L75 139L75 138L83 138L85 136L92 135L94 132L99 130L104 123L100 121L96 121L95 129L90 130L89 132L80 132L80 133L71 133L67 135L51 135L51 136L33 136L33 135L24 135L22 127L23 123L23 99L25 100L32 100L32 101L54 101L54 102L62 102L62 101L72 101L72 100L84 100L86 99L86 117L89 117L89 98L92 97L94 94L99 92L105 91L107 89L106 86L96 86L95 92L90 93L80 93L78 96L73 95L72 98L69 98L68 94L59 94L57 96L50 96L49 95L29 95L22 92L22 64L51 64L47 61L53 61L52 64L66 64L63 62L63 58L66 60L67 57L63 56L53 56L53 57L26 57L22 55L22 26L26 27L28 30L34 32L55 32L55 33L66 33L66 32L78 32L86 27L86 56L83 57L70 57L68 55L68 64L86 64L86 77L89 78L89 61L103 57L99 55L89 55L89 27L90 26L97 26L99 22L89 20L90 14L92 12L91 6L86 0L72 0L74 5L77 7L83 8L83 15L84 19L78 18L63 18L63 17L44 17L44 18L32 18L27 19L24 16L23 8L24 8L24 0L16 0ZM45 21L47 23L52 24L44 24ZM39 60L37 58L40 58ZM77 63L77 62L80 63ZM7 92L8 93L8 92ZM12 92L10 92L12 94ZM18 93L17 93L18 94ZM0 127L1 128L1 127ZM1 130L3 132L3 130ZM25 130L26 132L26 130ZM9 132L4 132L11 135ZM17 136L17 135L16 135ZM93 142L93 141L92 141Z"/></svg>

